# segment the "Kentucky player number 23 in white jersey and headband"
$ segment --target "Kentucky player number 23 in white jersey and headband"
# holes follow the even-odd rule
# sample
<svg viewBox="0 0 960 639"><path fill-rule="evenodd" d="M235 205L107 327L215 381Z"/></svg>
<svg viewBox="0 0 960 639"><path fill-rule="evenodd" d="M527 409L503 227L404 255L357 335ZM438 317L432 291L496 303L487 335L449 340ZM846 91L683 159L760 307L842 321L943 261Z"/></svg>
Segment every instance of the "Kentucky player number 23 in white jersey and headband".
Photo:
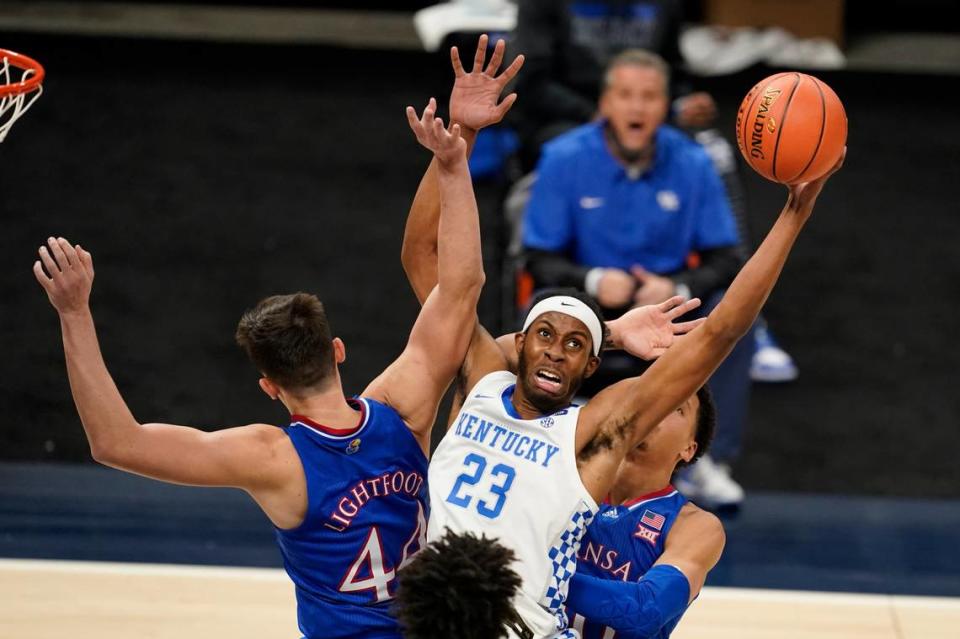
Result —
<svg viewBox="0 0 960 639"><path fill-rule="evenodd" d="M469 115L451 104L451 119L468 141L485 124ZM625 455L703 386L750 328L830 174L788 187L777 221L722 303L680 339L675 334L689 326L671 321L693 306L677 297L610 322L609 338L599 309L572 294L534 304L522 331L500 338L508 342L505 350L476 326L458 380L463 408L430 466L428 536L437 539L446 528L485 533L514 551L522 579L514 605L526 629L511 629L513 635L577 636L563 604L586 525ZM421 300L436 281L431 256L438 212L436 183L428 174L411 208L403 250ZM631 323L654 330L630 330ZM572 406L604 346L659 358L643 375L613 384L582 408ZM447 594L438 595L438 610Z"/></svg>

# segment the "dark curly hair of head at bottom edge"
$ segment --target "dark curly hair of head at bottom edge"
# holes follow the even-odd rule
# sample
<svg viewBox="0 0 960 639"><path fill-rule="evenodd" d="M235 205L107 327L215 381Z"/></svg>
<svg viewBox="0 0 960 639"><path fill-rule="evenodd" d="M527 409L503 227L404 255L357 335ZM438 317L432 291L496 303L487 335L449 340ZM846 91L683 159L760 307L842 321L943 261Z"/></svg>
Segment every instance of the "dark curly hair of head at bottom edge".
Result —
<svg viewBox="0 0 960 639"><path fill-rule="evenodd" d="M496 639L516 612L514 553L485 535L449 529L400 573L394 612L406 639Z"/></svg>

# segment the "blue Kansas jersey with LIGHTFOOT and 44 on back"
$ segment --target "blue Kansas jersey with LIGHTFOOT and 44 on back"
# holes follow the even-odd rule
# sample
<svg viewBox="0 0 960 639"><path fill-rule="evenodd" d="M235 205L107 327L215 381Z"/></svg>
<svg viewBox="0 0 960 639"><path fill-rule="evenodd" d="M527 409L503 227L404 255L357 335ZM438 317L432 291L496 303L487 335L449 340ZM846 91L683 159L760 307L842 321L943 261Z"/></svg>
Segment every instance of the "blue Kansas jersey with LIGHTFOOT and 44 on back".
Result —
<svg viewBox="0 0 960 639"><path fill-rule="evenodd" d="M326 428L294 415L285 428L307 478L307 516L277 529L308 639L399 639L390 615L397 572L426 544L427 458L400 416L351 400L360 423Z"/></svg>

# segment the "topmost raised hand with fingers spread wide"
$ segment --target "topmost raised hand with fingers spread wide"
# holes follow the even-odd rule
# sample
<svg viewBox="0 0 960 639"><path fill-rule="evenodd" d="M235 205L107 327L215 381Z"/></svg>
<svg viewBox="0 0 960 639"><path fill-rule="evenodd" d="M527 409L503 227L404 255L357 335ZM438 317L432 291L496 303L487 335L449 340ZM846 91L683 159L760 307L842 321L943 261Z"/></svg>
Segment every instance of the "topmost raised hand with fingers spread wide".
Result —
<svg viewBox="0 0 960 639"><path fill-rule="evenodd" d="M456 76L453 91L450 93L450 121L458 122L475 131L502 120L513 103L517 101L517 94L511 93L503 99L503 102L497 104L503 89L523 66L523 56L518 55L503 73L497 75L506 48L505 42L498 40L493 49L493 55L490 56L490 62L484 69L487 40L486 34L480 36L470 73L463 70L457 47L450 49L450 62Z"/></svg>

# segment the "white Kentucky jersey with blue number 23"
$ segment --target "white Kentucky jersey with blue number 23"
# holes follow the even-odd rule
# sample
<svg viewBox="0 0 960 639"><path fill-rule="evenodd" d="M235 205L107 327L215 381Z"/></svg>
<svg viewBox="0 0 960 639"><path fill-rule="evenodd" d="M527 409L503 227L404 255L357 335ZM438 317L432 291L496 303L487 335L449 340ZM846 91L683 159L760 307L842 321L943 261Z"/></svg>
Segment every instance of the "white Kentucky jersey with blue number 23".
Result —
<svg viewBox="0 0 960 639"><path fill-rule="evenodd" d="M516 375L481 379L430 461L428 539L471 531L516 553L523 584L514 606L536 637L577 637L563 604L577 551L597 504L580 481L578 406L521 419ZM559 633L559 634L558 634Z"/></svg>

